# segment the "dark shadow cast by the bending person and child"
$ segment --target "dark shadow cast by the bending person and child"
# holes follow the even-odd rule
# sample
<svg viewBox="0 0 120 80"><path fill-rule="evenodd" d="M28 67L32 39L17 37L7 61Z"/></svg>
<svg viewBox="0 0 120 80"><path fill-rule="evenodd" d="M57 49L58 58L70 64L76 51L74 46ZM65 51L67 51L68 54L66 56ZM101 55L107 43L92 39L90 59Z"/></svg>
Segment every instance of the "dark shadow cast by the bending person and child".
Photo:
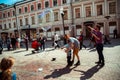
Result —
<svg viewBox="0 0 120 80"><path fill-rule="evenodd" d="M74 68L76 68L76 67L70 68L70 67L66 66L62 69L55 69L50 75L45 76L44 79L60 77L64 74L70 73L72 71L72 69L74 69Z"/></svg>

